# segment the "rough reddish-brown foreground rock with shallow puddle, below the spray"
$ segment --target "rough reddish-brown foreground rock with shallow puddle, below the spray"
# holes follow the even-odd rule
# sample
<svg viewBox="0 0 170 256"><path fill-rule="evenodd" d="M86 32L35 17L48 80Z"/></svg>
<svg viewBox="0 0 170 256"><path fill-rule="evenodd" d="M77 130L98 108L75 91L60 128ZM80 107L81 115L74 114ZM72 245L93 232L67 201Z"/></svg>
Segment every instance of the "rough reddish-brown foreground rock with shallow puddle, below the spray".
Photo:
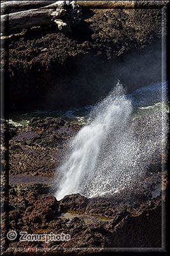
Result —
<svg viewBox="0 0 170 256"><path fill-rule="evenodd" d="M141 192L141 191L140 191ZM140 193L139 192L139 193ZM87 199L79 194L57 202L53 195L10 186L9 228L28 234L69 234L69 241L10 242L11 247L161 247L161 195L131 200L119 195ZM131 192L132 193L132 192ZM72 210L74 209L74 210ZM152 234L154 233L154 237Z"/></svg>

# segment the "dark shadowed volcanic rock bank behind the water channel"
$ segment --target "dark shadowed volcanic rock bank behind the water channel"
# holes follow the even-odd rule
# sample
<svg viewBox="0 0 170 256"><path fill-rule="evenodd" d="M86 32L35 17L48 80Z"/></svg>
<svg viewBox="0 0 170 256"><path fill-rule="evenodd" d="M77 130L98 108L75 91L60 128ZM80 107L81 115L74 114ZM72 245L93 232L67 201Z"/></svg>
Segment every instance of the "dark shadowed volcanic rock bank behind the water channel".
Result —
<svg viewBox="0 0 170 256"><path fill-rule="evenodd" d="M10 110L92 104L120 77L130 89L161 80L163 27L161 9L85 8L71 34L41 26L11 35ZM2 70L6 56L3 48Z"/></svg>

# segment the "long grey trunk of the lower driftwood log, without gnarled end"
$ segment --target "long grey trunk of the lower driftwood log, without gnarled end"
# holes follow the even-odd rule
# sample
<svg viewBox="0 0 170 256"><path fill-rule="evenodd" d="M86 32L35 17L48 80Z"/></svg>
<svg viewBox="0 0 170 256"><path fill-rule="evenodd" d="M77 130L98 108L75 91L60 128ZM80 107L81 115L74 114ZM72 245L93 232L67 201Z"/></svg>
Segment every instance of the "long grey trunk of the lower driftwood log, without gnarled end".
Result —
<svg viewBox="0 0 170 256"><path fill-rule="evenodd" d="M31 28L33 26L41 26L52 24L53 20L62 17L66 13L66 10L61 9L60 13L55 9L32 9L24 12L10 13L9 15L1 16L1 29L4 31L4 26L9 17L9 31L17 31L18 29Z"/></svg>

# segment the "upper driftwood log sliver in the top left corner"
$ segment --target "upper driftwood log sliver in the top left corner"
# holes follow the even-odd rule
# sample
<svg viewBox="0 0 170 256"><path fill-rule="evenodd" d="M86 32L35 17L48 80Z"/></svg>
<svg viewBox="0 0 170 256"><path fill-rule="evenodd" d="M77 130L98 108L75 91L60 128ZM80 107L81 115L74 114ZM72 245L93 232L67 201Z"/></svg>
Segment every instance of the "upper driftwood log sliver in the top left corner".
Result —
<svg viewBox="0 0 170 256"><path fill-rule="evenodd" d="M1 14L40 8L56 1L6 1L1 3Z"/></svg>

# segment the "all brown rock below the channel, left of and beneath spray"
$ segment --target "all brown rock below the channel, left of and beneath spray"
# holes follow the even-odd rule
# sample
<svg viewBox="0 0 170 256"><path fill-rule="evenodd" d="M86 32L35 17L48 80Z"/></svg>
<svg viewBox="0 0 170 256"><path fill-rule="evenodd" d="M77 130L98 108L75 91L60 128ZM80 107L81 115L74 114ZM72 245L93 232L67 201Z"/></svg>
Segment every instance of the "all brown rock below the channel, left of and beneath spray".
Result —
<svg viewBox="0 0 170 256"><path fill-rule="evenodd" d="M33 177L39 175L53 177L68 141L80 128L81 125L65 122L61 118L44 120L32 118L25 127L14 127L10 124L8 132L8 124L3 121L1 131L4 136L9 135L10 157L7 167L10 168L10 175L20 174L22 177L23 174L29 173ZM6 147L8 145L4 145L3 148L4 158ZM48 157L49 154L50 157ZM43 155L42 159L41 155ZM50 241L49 243L19 241L18 236L15 241L8 241L8 250L13 250L13 253L16 252L18 255L19 252L22 253L22 248L23 250L38 248L41 252L46 252L48 249L50 252L60 252L62 248L62 253L68 253L67 248L74 248L72 249L74 252L76 248L87 248L87 250L91 248L92 251L89 253L94 252L93 248L98 248L97 252L103 251L104 248L134 246L135 248L161 248L162 207L165 207L166 202L166 173L162 175L161 165L159 167L153 164L150 168L148 175L141 179L138 177L129 189L97 198L86 198L80 194L74 194L57 201L53 196L57 189L56 179L53 179L53 184L32 182L32 184L6 185L3 187L7 188L3 190L3 202L4 205L9 202L7 207L9 230L15 230L17 234L23 230L28 234L63 232L71 236L69 241ZM7 168L4 168L2 176L3 184L5 180L8 180ZM4 207L2 215L4 223L7 222L6 214ZM6 243L6 237L3 239L4 243ZM79 250L79 253L84 253L83 249ZM87 250L85 252L88 252Z"/></svg>

